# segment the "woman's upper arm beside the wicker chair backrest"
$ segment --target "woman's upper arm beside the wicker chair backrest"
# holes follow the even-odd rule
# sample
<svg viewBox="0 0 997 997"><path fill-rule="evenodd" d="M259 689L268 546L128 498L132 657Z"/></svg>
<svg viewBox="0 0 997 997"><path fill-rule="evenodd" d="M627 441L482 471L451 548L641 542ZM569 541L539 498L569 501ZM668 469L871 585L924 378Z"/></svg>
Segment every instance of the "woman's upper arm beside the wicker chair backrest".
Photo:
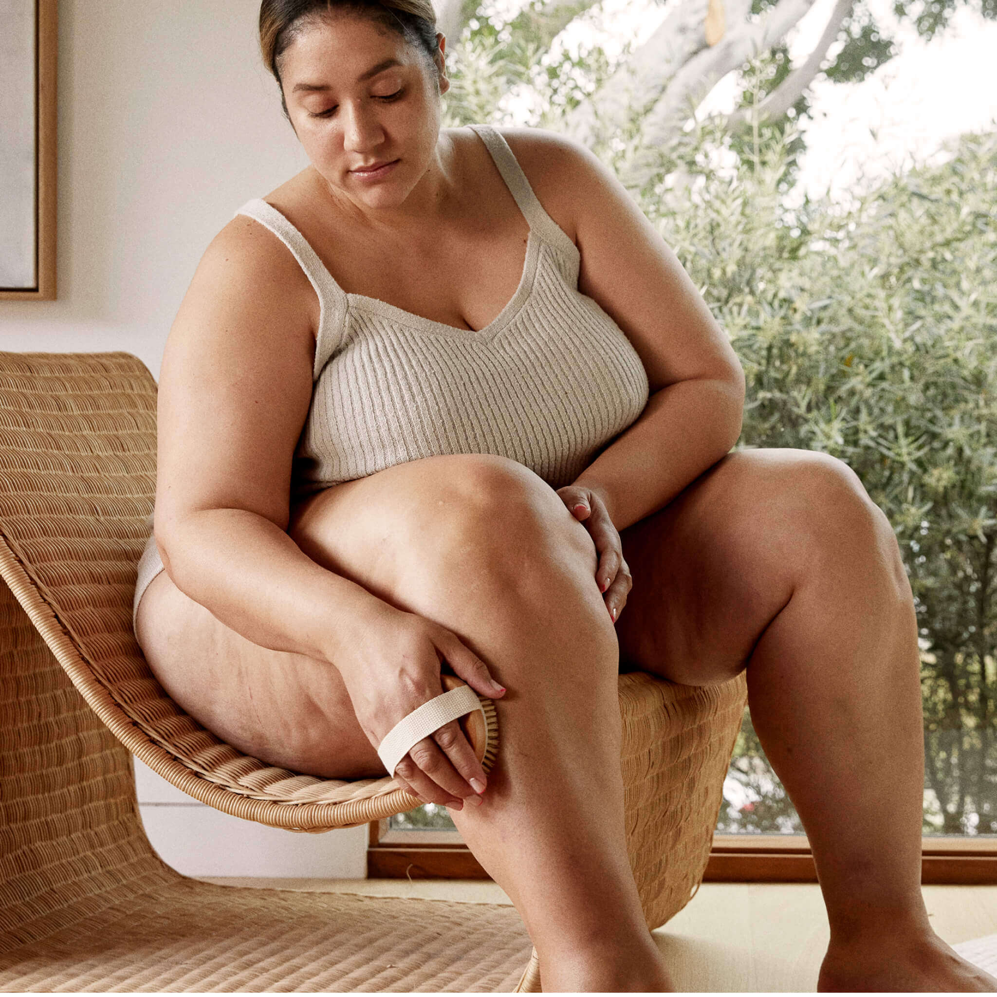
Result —
<svg viewBox="0 0 997 997"><path fill-rule="evenodd" d="M166 339L156 531L241 508L287 528L291 462L312 393L315 298L282 243L245 216L204 252ZM315 299L317 305L317 299Z"/></svg>

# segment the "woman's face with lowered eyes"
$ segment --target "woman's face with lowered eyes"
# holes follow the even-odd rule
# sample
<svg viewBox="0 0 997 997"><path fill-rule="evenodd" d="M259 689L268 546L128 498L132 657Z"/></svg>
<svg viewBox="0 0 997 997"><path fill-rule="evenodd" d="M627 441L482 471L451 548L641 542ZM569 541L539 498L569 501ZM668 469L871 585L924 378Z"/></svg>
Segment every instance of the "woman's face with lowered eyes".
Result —
<svg viewBox="0 0 997 997"><path fill-rule="evenodd" d="M316 19L285 50L287 114L334 193L358 206L405 201L437 162L439 95L450 87L442 66L442 52L430 65L398 32L352 12Z"/></svg>

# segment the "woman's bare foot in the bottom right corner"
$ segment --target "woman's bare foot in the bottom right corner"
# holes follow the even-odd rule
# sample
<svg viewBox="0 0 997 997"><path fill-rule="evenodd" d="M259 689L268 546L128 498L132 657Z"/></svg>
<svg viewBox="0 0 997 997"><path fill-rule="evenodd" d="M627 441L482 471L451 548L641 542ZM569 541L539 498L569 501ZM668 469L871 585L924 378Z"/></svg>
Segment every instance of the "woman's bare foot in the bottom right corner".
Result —
<svg viewBox="0 0 997 997"><path fill-rule="evenodd" d="M832 942L817 988L822 992L992 993L997 991L997 979L967 962L932 931L905 941L880 936L849 944Z"/></svg>

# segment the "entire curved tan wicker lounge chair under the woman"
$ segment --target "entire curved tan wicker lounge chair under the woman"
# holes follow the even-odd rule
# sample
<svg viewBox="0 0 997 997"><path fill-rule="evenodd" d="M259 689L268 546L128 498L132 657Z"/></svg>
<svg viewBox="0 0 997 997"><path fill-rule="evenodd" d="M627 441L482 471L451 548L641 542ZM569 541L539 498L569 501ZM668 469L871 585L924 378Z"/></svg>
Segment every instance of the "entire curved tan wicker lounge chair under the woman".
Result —
<svg viewBox="0 0 997 997"><path fill-rule="evenodd" d="M535 949L516 969L529 940L511 907L217 886L155 854L128 752L288 831L419 804L394 779L246 757L166 696L131 619L155 479L140 360L0 352L0 989L538 991ZM628 850L654 928L702 879L746 684L637 671L619 691Z"/></svg>

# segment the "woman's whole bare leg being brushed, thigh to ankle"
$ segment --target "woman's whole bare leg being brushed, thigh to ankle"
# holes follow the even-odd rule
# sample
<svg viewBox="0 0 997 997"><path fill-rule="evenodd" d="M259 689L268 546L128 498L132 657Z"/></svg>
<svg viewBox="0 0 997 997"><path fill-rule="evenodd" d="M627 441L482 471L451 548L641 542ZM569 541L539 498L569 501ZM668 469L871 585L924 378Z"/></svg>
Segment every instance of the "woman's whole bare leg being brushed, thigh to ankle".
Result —
<svg viewBox="0 0 997 997"><path fill-rule="evenodd" d="M626 853L618 645L584 526L521 466L464 456L329 489L291 534L319 563L453 630L507 687L483 804L454 819L522 916L544 990L670 989ZM229 711L204 716L232 743L262 739L257 757L279 747L297 771L384 775L328 664L252 644L167 577L140 623L167 689L195 716Z"/></svg>

